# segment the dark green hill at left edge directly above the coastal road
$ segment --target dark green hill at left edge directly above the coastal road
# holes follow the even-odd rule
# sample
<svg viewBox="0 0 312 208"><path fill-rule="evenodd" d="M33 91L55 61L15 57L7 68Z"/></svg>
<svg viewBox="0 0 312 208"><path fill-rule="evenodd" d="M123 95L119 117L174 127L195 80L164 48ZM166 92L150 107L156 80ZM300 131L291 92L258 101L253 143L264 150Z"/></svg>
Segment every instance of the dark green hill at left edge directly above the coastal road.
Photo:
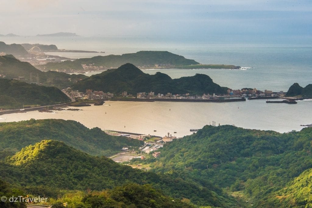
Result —
<svg viewBox="0 0 312 208"><path fill-rule="evenodd" d="M0 109L22 108L23 105L49 105L71 101L56 87L0 79Z"/></svg>

